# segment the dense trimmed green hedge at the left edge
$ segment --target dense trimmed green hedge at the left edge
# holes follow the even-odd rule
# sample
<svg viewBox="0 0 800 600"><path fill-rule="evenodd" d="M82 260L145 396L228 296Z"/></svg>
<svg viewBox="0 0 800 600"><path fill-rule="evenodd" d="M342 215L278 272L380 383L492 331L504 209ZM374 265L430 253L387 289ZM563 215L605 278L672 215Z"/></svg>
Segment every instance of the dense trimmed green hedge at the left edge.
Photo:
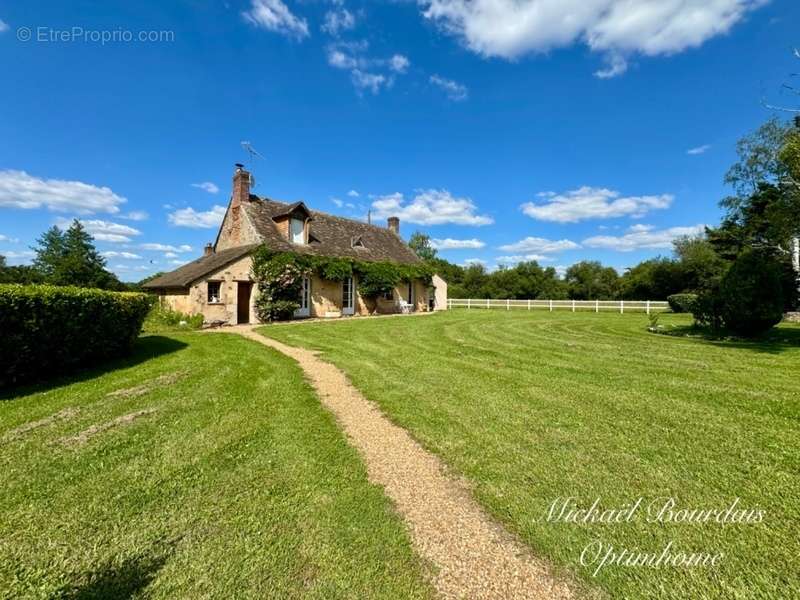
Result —
<svg viewBox="0 0 800 600"><path fill-rule="evenodd" d="M0 387L127 354L152 302L131 292L0 285Z"/></svg>

